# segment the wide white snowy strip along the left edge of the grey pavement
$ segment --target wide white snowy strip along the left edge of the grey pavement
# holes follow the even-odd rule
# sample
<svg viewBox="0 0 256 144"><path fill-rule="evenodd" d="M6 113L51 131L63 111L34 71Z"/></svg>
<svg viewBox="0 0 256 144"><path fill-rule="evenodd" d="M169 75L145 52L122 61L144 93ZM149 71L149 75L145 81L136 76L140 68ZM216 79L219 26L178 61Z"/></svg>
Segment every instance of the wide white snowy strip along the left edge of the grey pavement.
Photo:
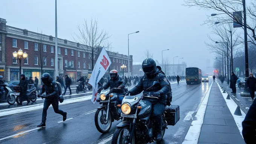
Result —
<svg viewBox="0 0 256 144"><path fill-rule="evenodd" d="M212 82L213 84L213 82ZM201 127L204 121L204 114L206 111L206 107L208 104L208 99L210 96L210 91L212 89L212 84L209 87L209 89L207 90L206 95L204 96L204 100L202 101L197 114L195 115L195 120L192 121L191 126L189 127L189 130L187 132L187 135L184 139L184 141L182 142L182 144L197 144L198 142L198 138L200 136L200 132L201 132Z"/></svg>

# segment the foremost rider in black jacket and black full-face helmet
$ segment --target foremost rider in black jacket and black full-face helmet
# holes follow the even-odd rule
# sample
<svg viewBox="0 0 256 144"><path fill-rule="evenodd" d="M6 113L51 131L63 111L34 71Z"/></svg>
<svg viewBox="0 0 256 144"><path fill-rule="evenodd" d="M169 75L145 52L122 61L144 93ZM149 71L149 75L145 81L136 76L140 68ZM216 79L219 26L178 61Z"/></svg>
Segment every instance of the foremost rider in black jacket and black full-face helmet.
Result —
<svg viewBox="0 0 256 144"><path fill-rule="evenodd" d="M126 93L128 95L129 93L131 95L137 95L143 91L143 93L146 93L146 89L151 87L154 83L154 81L158 81L160 83L160 86L157 88L149 91L153 93L155 98L143 98L146 101L150 101L152 103L153 107L153 114L152 118L154 119L154 125L155 125L155 137L156 140L160 140L162 137L162 115L165 111L166 106L166 94L170 92L170 84L167 81L164 74L161 73L156 68L156 63L152 58L147 58L142 62L142 69L145 73L144 76L140 79L139 83L130 91Z"/></svg>

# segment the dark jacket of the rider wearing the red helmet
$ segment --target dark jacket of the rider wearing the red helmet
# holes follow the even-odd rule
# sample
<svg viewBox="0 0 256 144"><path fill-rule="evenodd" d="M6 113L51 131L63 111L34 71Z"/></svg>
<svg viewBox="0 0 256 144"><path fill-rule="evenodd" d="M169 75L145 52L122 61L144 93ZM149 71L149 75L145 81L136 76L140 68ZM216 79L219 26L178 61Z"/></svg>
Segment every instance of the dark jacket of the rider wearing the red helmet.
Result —
<svg viewBox="0 0 256 144"><path fill-rule="evenodd" d="M110 89L120 87L122 89L122 93L125 93L125 90L123 89L125 88L125 81L123 80L123 78L119 77L119 75L114 81L112 79L109 79L108 82L102 87L102 89L106 90L108 89L108 87L110 87Z"/></svg>

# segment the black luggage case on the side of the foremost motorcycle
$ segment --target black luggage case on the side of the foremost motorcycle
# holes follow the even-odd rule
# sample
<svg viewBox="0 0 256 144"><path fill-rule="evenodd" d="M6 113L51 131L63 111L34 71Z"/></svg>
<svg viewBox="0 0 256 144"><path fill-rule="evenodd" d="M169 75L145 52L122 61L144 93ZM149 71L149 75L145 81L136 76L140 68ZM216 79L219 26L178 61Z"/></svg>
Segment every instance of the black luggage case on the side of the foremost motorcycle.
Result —
<svg viewBox="0 0 256 144"><path fill-rule="evenodd" d="M174 126L180 120L180 106L171 105L165 109L165 120L168 125Z"/></svg>

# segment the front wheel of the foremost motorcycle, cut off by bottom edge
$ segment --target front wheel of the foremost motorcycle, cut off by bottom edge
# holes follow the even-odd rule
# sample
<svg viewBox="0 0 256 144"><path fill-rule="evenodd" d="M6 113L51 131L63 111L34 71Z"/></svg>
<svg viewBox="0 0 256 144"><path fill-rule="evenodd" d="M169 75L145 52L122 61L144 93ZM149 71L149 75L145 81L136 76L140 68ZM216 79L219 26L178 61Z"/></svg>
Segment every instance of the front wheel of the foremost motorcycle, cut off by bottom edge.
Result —
<svg viewBox="0 0 256 144"><path fill-rule="evenodd" d="M130 127L117 127L113 133L111 144L128 144L130 138ZM135 136L133 133L133 138L131 144L135 144Z"/></svg>

